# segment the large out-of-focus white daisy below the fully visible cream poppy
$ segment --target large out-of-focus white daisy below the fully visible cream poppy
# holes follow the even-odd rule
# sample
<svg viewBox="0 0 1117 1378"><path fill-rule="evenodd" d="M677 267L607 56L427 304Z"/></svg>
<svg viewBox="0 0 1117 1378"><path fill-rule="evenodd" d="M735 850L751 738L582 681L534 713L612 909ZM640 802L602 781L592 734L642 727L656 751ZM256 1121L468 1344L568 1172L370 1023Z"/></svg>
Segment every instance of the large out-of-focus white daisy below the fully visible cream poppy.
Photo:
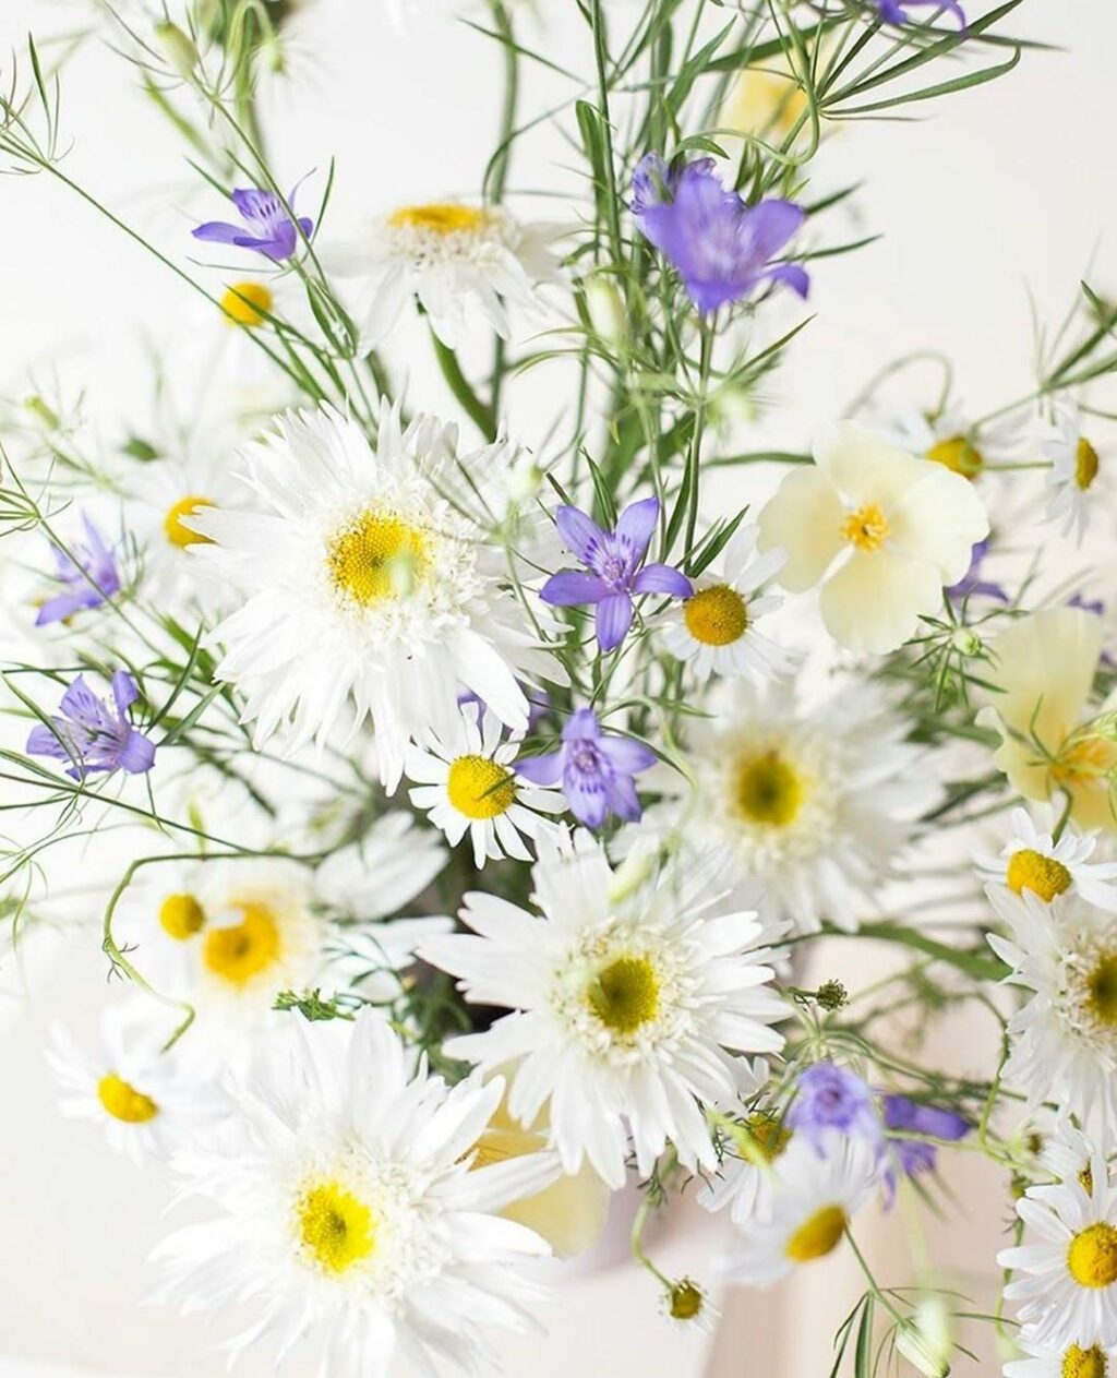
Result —
<svg viewBox="0 0 1117 1378"><path fill-rule="evenodd" d="M691 729L696 790L680 819L696 847L727 845L762 914L815 933L851 930L938 796L908 723L873 685L848 683L814 712L785 690L726 685ZM667 781L672 788L672 781Z"/></svg>

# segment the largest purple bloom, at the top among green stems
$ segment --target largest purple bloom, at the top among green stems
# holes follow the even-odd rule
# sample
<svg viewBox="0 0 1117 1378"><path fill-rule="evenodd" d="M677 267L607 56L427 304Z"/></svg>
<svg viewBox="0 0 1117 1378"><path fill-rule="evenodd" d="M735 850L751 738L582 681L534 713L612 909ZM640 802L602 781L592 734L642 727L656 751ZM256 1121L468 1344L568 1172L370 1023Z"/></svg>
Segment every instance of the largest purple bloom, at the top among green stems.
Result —
<svg viewBox="0 0 1117 1378"><path fill-rule="evenodd" d="M777 200L745 205L722 186L713 158L669 168L647 153L632 189L632 214L645 238L679 270L704 314L740 302L764 281L807 295L803 267L771 262L806 219L802 207Z"/></svg>

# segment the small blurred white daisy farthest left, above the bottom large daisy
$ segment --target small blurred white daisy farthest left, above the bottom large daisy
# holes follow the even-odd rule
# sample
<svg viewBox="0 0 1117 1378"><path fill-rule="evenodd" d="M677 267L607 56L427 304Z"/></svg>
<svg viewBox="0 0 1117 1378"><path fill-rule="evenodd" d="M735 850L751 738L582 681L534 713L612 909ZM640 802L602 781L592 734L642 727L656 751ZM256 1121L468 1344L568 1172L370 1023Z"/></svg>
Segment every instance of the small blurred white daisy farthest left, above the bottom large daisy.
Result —
<svg viewBox="0 0 1117 1378"><path fill-rule="evenodd" d="M146 1000L110 1005L101 1017L98 1047L81 1046L55 1025L47 1053L62 1113L99 1120L112 1146L135 1163L165 1156L208 1113L200 1067L185 1045L164 1051L174 1025L160 1013L157 1020Z"/></svg>

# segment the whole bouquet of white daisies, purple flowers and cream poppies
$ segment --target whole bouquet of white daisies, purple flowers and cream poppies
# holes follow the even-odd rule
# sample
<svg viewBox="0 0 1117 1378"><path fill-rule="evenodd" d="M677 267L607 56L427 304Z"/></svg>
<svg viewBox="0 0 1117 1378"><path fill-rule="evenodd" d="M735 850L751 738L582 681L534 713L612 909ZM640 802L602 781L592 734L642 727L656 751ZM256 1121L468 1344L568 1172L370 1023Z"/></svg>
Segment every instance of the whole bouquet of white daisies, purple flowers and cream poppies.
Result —
<svg viewBox="0 0 1117 1378"><path fill-rule="evenodd" d="M72 175L79 43L11 65L0 161L183 318L132 415L0 411L0 915L6 966L101 926L103 1043L48 1061L198 1199L163 1298L297 1372L490 1372L635 1196L680 1327L851 1251L833 1375L943 1375L961 1322L1010 1378L1117 1371L1117 675L1047 554L1111 532L1117 309L1083 285L992 413L920 356L811 453L756 438L866 243L820 150L1043 61L1021 0L566 0L562 51L515 0L404 6L503 72L481 185L420 204L275 145L322 0L88 4L189 223ZM530 186L540 128L572 190ZM963 1069L926 1038L959 1011L996 1035ZM988 1306L919 1246L960 1153L1004 1186ZM693 1277L643 1239L683 1193L731 1217Z"/></svg>

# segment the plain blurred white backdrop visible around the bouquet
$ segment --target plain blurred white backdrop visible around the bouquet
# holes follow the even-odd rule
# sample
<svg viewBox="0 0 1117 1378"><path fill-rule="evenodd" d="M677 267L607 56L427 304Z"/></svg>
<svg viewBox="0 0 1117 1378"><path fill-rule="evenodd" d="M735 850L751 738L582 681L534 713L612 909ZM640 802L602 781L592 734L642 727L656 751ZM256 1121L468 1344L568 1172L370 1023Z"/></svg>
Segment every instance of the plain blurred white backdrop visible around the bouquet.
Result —
<svg viewBox="0 0 1117 1378"><path fill-rule="evenodd" d="M424 15L427 8L434 7L423 0L401 34L379 0L324 0L315 30L321 56L288 103L273 102L271 147L285 179L309 168L321 179L336 154L337 222L468 194L479 182L496 124L494 56L442 8ZM539 41L584 68L587 33L573 0L539 0L537 8L543 17L528 22L541 30ZM79 0L3 0L0 55L18 48L29 29L63 32L83 10ZM959 393L972 409L1015 398L1030 379L1027 294L1048 320L1062 316L1091 259L1091 282L1110 294L1117 287L1107 237L1117 226L1117 7L1023 0L1014 25L1065 51L1026 54L1001 81L920 107L920 119L848 127L825 149L824 185L865 179L859 220L865 233L884 237L815 266L815 320L771 389L758 448L807 444L876 368L916 349L952 357ZM550 83L536 73L528 81L526 101L544 105ZM190 225L218 208L196 214L180 149L129 84L127 68L95 45L83 51L66 76L62 123L73 139L69 175L172 256L186 258ZM561 142L543 132L516 154L511 185L569 187L563 163ZM138 332L167 338L194 329L187 291L48 178L4 179L0 197L0 391L19 394L29 372L41 373L61 354L63 375L88 389L99 412L142 411L147 380ZM550 201L539 214L559 218ZM450 405L426 364L409 372L424 402ZM928 391L912 401L932 400L934 383L928 375ZM551 419L545 407L537 390L516 394L514 422L525 438ZM95 925L92 904L90 918ZM828 974L859 984L865 962L862 951L844 951ZM113 1158L94 1126L63 1122L54 1109L44 1029L61 1016L92 1027L105 995L96 941L69 937L32 954L32 967L34 1000L0 1006L0 1356L8 1356L0 1374L218 1372L222 1361L197 1322L143 1299L152 1290L146 1255L165 1229L163 1185ZM959 1067L981 1065L982 1050L965 1028L943 1029L938 1051ZM950 1174L971 1210L990 1202L988 1218L934 1226L931 1254L952 1282L970 1284L985 1273L988 1283L1003 1196L968 1162L952 1164ZM667 1261L707 1276L719 1229L720 1222L679 1222L664 1246ZM890 1233L898 1229L879 1226L877 1254L895 1259L888 1280L904 1282L905 1247ZM572 1283L547 1317L551 1339L508 1345L505 1367L511 1378L822 1378L829 1335L857 1291L853 1272L843 1276L835 1265L759 1304L726 1298L716 1338L696 1341L660 1323L647 1279L621 1268ZM267 1371L259 1363L244 1368ZM972 1371L992 1372L992 1359Z"/></svg>

